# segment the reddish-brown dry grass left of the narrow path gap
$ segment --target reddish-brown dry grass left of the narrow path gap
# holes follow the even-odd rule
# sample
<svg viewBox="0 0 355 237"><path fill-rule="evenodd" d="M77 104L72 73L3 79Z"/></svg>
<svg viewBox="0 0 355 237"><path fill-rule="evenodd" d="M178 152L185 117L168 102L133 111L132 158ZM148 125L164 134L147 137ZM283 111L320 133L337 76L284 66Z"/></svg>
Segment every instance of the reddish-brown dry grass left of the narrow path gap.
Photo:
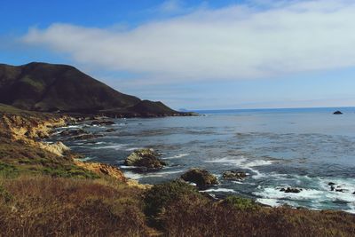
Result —
<svg viewBox="0 0 355 237"><path fill-rule="evenodd" d="M140 192L106 180L1 179L0 236L145 236Z"/></svg>

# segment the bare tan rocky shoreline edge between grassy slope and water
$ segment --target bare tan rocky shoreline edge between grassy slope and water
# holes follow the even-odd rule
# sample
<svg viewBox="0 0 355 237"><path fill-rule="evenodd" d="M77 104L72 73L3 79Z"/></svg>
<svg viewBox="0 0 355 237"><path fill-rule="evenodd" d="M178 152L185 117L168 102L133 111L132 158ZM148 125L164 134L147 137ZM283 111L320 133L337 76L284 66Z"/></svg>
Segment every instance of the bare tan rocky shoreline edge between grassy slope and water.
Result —
<svg viewBox="0 0 355 237"><path fill-rule="evenodd" d="M137 186L140 188L149 187L149 185L139 185L137 181L125 178L122 170L117 167L100 162L80 161L80 154L73 154L70 151L70 148L64 145L60 140L53 143L43 141L43 138L50 138L55 128L67 127L78 121L82 120L69 115L36 116L2 114L0 123L4 130L9 131L7 134L9 139L20 142L24 144L24 146L36 147L59 157L70 157L76 166L85 170L90 170L99 176L105 175L110 178L115 178L120 182L129 184L130 186ZM86 134L85 132L83 133ZM82 133L80 134L77 133L76 136L79 136L78 138L83 136Z"/></svg>

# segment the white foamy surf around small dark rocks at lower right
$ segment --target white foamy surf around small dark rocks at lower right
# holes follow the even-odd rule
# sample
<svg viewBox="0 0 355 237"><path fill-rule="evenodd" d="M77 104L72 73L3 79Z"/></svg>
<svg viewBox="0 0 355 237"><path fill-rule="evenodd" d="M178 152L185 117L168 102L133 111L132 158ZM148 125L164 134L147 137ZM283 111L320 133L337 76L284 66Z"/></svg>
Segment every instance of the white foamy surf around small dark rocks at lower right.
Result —
<svg viewBox="0 0 355 237"><path fill-rule="evenodd" d="M271 206L288 204L293 207L304 206L310 209L343 209L355 213L355 181L350 178L310 178L298 175L268 174L275 182L284 183L285 186L258 186L253 192L258 198L256 201ZM296 181L295 181L296 180ZM339 192L331 190L329 183L335 185ZM284 193L281 187L288 183L299 184L302 191L297 194Z"/></svg>

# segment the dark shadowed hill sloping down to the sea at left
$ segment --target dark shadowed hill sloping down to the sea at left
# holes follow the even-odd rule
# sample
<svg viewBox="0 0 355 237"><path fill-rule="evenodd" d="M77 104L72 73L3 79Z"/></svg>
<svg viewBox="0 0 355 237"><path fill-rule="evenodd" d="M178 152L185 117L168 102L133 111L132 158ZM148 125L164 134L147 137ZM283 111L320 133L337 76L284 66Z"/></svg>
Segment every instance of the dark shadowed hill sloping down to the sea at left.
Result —
<svg viewBox="0 0 355 237"><path fill-rule="evenodd" d="M114 91L75 67L36 62L19 67L0 64L0 103L45 112L97 114L114 109L141 114L137 97ZM162 103L148 104L142 107L144 114L146 110L177 114Z"/></svg>

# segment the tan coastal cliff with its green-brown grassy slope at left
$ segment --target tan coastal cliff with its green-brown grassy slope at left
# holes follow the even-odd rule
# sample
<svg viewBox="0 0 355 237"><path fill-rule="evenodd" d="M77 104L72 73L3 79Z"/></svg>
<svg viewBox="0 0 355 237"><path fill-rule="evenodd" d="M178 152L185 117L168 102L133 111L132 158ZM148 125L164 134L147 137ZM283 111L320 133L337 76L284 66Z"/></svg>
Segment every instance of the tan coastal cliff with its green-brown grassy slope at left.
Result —
<svg viewBox="0 0 355 237"><path fill-rule="evenodd" d="M50 136L53 128L66 126L67 122L75 121L74 118L67 115L30 113L11 107L5 107L11 113L4 113L2 108L4 110L0 105L0 145L3 145L0 147L0 166L2 162L7 162L15 170L20 165L21 169L25 167L28 170L42 170L55 176L93 175L131 183L114 166L99 162L80 162L75 160L75 154L68 153L70 149L62 142L49 144L42 141L42 138ZM90 173L86 174L83 170Z"/></svg>

